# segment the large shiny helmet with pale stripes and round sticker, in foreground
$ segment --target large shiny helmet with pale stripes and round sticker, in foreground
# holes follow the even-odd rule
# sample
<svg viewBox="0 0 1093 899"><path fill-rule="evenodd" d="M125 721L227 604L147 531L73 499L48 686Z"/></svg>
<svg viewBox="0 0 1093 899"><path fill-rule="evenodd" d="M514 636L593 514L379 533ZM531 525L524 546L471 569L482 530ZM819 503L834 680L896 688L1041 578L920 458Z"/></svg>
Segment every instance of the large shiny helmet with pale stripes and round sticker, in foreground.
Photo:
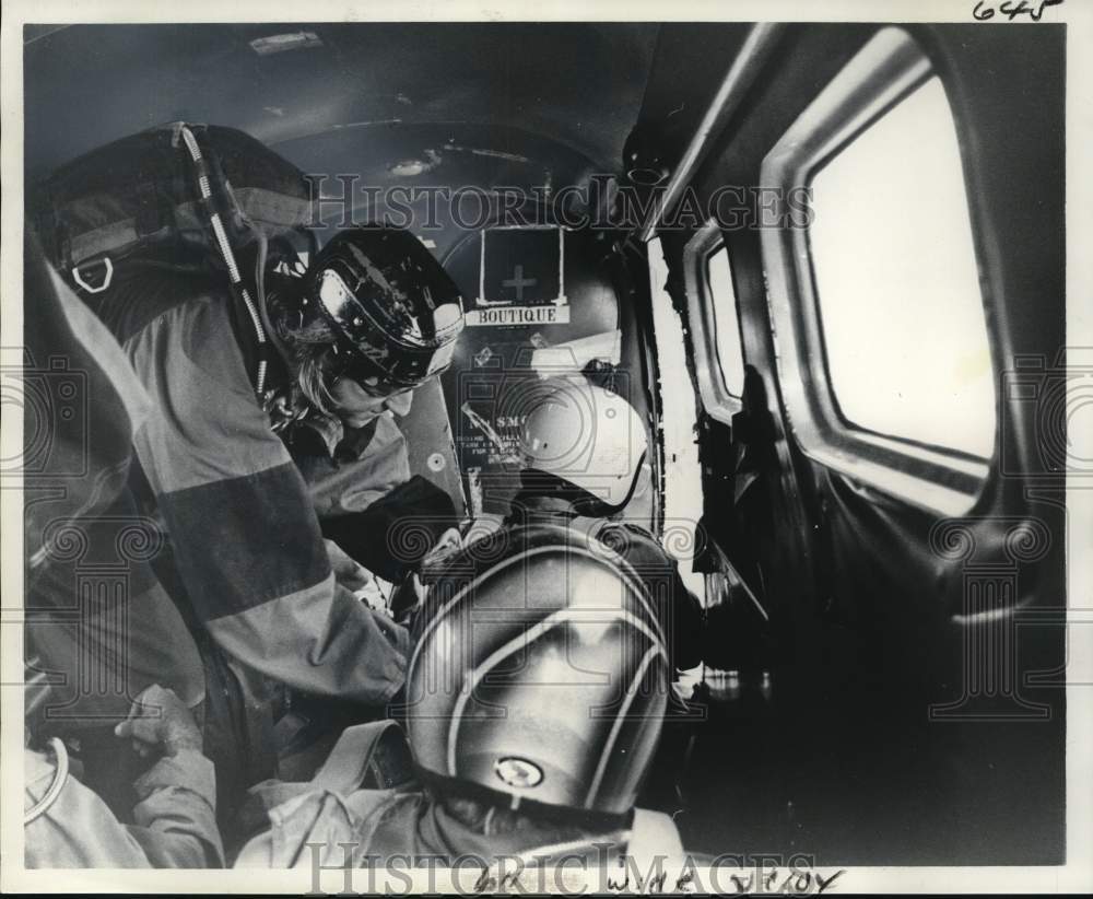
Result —
<svg viewBox="0 0 1093 899"><path fill-rule="evenodd" d="M635 571L552 524L496 532L444 568L407 676L419 775L529 813L628 814L670 689Z"/></svg>

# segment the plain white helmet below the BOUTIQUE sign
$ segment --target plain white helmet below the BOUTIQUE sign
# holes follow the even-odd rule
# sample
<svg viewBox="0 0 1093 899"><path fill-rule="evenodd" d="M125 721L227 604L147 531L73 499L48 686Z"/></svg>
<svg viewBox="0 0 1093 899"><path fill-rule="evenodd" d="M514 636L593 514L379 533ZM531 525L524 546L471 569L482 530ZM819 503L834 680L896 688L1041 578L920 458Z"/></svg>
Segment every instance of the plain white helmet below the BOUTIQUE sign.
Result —
<svg viewBox="0 0 1093 899"><path fill-rule="evenodd" d="M583 375L552 377L534 397L520 434L524 467L578 487L610 509L625 505L647 447L634 408Z"/></svg>

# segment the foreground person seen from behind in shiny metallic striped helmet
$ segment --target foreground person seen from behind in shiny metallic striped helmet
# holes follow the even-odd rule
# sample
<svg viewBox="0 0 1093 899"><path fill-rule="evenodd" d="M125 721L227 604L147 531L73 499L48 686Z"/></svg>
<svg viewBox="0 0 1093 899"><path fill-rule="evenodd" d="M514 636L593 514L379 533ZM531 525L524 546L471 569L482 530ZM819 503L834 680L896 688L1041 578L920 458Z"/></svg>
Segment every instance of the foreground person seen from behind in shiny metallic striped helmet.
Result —
<svg viewBox="0 0 1093 899"><path fill-rule="evenodd" d="M635 808L670 689L646 586L578 530L501 534L448 558L419 618L402 710L416 784L359 789L380 754L357 740L354 757L346 732L316 782L254 791L266 830L237 867L680 851L667 816Z"/></svg>

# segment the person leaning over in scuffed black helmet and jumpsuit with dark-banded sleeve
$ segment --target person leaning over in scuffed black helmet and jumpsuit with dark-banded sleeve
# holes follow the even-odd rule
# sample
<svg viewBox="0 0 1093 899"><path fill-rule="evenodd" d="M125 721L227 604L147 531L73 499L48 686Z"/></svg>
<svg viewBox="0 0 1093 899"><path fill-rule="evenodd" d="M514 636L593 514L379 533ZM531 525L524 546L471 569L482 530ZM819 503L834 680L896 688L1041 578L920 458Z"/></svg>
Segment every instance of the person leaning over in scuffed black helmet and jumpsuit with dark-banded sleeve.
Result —
<svg viewBox="0 0 1093 899"><path fill-rule="evenodd" d="M307 484L274 428L312 407L360 424L445 367L461 305L422 250L406 231L353 229L318 255L302 290L268 297L277 352L261 397L251 375L262 347L223 277L133 265L94 297L153 405L133 441L134 490L169 535L161 580L205 658L218 659L207 677L244 685L245 713L223 702L227 687L207 690L225 815L227 792L273 771L271 682L368 708L403 685L406 629L337 583Z"/></svg>

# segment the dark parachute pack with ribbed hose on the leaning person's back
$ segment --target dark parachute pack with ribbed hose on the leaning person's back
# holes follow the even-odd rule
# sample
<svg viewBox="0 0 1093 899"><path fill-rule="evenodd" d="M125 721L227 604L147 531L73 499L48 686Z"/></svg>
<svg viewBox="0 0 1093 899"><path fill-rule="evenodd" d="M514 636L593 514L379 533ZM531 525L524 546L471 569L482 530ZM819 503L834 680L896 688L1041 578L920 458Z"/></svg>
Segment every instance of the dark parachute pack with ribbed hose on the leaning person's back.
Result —
<svg viewBox="0 0 1093 899"><path fill-rule="evenodd" d="M107 291L117 267L152 254L198 254L224 271L258 337L261 394L267 339L236 248L303 235L314 249L310 185L296 166L237 129L177 121L80 156L32 196L43 249L80 294Z"/></svg>

